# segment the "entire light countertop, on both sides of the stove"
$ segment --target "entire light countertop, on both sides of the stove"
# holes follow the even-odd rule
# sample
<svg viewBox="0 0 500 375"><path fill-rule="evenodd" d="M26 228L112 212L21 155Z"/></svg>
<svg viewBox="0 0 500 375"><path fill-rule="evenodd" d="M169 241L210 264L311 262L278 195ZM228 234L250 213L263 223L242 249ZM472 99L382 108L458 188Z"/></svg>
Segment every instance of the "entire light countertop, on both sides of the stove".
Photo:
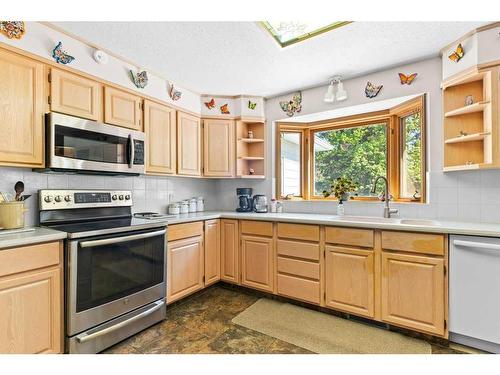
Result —
<svg viewBox="0 0 500 375"><path fill-rule="evenodd" d="M356 227L369 229L388 229L408 232L428 232L463 234L470 236L500 237L500 224L469 223L462 221L440 221L424 219L414 219L415 223L403 224L400 221L405 218L373 218L362 216L336 216L303 213L252 213L252 212L232 212L232 211L205 211L191 214L176 215L157 220L143 220L144 223L159 223L165 225L189 223L210 219L246 219L261 221L280 221L287 223L319 224L342 227ZM408 219L411 220L411 219ZM420 222L420 223L419 223ZM35 243L57 241L67 237L65 232L48 229L35 228L34 231L24 233L12 233L8 231L0 232L0 250L9 247L24 246Z"/></svg>

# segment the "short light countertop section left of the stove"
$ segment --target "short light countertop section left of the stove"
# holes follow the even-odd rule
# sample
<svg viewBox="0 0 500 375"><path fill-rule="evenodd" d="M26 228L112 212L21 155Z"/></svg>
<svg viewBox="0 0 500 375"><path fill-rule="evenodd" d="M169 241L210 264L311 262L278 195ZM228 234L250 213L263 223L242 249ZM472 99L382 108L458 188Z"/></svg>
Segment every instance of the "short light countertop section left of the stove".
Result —
<svg viewBox="0 0 500 375"><path fill-rule="evenodd" d="M16 232L16 230L0 231L0 250L10 247L33 245L42 242L60 241L67 237L65 232L58 230L35 227L29 232Z"/></svg>

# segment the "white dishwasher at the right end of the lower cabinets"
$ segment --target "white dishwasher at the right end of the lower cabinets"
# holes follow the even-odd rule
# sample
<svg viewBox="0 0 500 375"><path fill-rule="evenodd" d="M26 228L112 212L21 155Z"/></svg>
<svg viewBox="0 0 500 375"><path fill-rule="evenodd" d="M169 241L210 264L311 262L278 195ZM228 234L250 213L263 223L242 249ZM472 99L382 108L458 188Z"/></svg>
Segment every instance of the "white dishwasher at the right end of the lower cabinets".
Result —
<svg viewBox="0 0 500 375"><path fill-rule="evenodd" d="M450 341L500 353L500 238L450 236Z"/></svg>

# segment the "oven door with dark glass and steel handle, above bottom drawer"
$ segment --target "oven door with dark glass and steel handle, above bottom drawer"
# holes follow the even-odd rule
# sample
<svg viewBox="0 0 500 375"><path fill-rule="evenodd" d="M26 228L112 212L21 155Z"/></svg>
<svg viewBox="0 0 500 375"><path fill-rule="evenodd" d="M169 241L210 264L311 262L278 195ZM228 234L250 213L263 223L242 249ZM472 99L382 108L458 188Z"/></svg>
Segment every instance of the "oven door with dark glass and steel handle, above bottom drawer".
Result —
<svg viewBox="0 0 500 375"><path fill-rule="evenodd" d="M68 241L67 334L165 298L166 229Z"/></svg>

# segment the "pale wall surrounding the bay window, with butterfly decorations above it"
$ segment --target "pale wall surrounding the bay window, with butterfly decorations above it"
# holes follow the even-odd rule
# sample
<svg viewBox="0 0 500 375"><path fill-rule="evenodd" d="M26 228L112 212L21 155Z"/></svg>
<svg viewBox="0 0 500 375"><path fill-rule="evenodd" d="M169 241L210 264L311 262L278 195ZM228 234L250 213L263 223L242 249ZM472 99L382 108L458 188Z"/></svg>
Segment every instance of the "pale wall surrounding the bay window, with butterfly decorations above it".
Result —
<svg viewBox="0 0 500 375"><path fill-rule="evenodd" d="M412 85L401 85L398 72L418 73ZM400 210L401 216L416 218L439 218L464 220L473 222L500 223L500 170L468 171L443 173L443 131L441 118L441 59L432 58L396 68L375 72L363 77L344 82L349 94L348 100L342 103L326 104L323 95L326 85L302 92L302 112L309 114L322 112L332 108L367 103L364 94L366 81L383 84L384 87L375 100L389 99L399 96L427 93L427 183L428 203L393 203ZM283 120L286 115L279 106L280 100L287 100L292 94L266 100L267 119L267 178L261 181L218 181L217 191L221 197L221 208L233 210L236 205L236 187L251 187L254 193L274 194L274 121ZM335 202L290 202L285 201L287 212L331 213L336 212ZM381 202L348 202L346 214L349 215L381 215Z"/></svg>

